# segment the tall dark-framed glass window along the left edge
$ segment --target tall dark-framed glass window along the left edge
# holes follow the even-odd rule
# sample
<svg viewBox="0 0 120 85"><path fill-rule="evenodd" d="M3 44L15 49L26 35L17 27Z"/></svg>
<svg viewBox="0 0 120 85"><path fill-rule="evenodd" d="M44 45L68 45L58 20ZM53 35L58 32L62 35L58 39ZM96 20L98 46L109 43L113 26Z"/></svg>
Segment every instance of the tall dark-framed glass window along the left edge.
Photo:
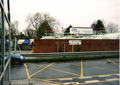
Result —
<svg viewBox="0 0 120 85"><path fill-rule="evenodd" d="M4 7L3 7L4 6ZM0 0L0 85L10 83L10 14L9 0ZM9 17L9 19L8 19ZM9 55L5 63L5 55Z"/></svg>

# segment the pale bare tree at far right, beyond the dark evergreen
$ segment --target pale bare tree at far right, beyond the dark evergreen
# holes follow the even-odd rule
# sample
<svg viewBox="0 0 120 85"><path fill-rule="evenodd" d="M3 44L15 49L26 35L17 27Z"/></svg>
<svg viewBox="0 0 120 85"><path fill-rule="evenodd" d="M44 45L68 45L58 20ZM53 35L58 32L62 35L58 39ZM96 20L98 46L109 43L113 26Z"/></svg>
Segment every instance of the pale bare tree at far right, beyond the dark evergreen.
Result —
<svg viewBox="0 0 120 85"><path fill-rule="evenodd" d="M106 24L105 29L107 33L117 33L120 30L119 25L112 22L109 22L108 24Z"/></svg>

